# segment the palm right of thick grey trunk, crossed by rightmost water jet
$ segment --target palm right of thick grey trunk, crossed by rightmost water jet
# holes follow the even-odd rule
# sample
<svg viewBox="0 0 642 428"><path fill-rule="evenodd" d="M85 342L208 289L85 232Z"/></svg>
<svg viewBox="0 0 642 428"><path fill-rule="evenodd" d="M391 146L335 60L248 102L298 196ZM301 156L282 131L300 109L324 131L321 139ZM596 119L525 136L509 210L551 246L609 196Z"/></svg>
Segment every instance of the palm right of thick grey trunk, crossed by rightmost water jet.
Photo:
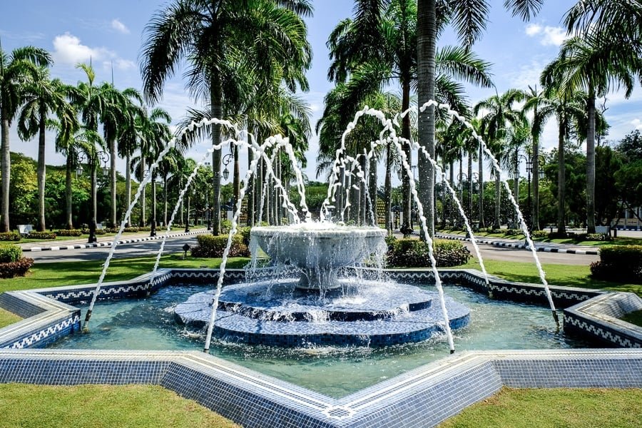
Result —
<svg viewBox="0 0 642 428"><path fill-rule="evenodd" d="M524 116L517 110L514 104L522 101L522 93L516 89L509 89L500 95L494 95L486 100L479 101L474 106L474 114L484 113L481 116L481 133L486 138L486 143L494 156L501 163L508 151L506 151L506 135L511 126L524 123ZM501 182L500 171L493 170L495 175L495 218L494 229L500 228L499 212L501 206Z"/></svg>

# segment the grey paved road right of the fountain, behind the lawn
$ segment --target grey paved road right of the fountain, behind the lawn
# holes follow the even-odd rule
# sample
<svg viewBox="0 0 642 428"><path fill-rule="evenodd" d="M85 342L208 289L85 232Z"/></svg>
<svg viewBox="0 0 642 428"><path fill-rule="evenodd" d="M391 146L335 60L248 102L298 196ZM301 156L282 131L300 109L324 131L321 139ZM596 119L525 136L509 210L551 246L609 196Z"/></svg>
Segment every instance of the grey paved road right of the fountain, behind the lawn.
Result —
<svg viewBox="0 0 642 428"><path fill-rule="evenodd" d="M470 250L473 257L477 258L474 253L472 243L464 243ZM501 260L506 262L526 262L534 263L533 254L528 250L516 250L514 248L500 248L493 245L479 244L481 257L484 260ZM543 253L538 252L537 257L541 263L551 263L556 265L590 265L600 260L598 255L580 255L580 254L563 254L563 253Z"/></svg>

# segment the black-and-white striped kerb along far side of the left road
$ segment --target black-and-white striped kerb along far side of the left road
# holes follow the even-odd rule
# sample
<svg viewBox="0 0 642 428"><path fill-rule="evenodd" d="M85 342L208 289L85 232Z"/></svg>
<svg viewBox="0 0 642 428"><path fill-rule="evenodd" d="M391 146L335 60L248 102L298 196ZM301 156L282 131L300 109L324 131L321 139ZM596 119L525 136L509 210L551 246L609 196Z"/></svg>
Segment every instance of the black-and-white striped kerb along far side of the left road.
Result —
<svg viewBox="0 0 642 428"><path fill-rule="evenodd" d="M172 231L169 233L168 238L176 238L179 236L193 236L200 235L202 233L211 233L210 230L206 228L191 228L190 232L179 232ZM148 240L158 240L163 239L165 236L165 229L158 228L156 229L156 236L150 236L149 232L139 232L139 233L127 233L126 235L121 236L121 240L118 240L118 245L128 244L128 243L139 243ZM78 238L72 240L64 241L42 241L39 243L25 243L18 244L24 252L29 251L58 251L58 250L80 250L83 248L98 248L98 247L111 247L113 244L113 235L112 236L99 236L97 237L96 243L87 243L87 238Z"/></svg>

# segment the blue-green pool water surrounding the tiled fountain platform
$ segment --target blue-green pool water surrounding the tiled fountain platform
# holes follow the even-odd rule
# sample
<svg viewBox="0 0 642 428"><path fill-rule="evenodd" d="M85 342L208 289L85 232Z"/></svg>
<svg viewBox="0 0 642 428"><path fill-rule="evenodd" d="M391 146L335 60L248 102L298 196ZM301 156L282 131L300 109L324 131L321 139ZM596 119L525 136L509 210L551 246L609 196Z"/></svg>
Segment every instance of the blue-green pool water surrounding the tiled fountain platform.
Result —
<svg viewBox="0 0 642 428"><path fill-rule="evenodd" d="M419 285L421 286L421 285ZM432 286L422 286L434 290ZM173 307L200 285L163 287L137 300L98 302L91 332L71 335L52 348L105 350L201 350L203 330L186 330L174 320ZM588 347L557 331L546 307L491 300L465 287L445 292L470 310L470 324L454 331L461 350L524 350ZM80 306L86 310L86 306ZM213 341L210 353L252 370L298 384L331 397L343 397L449 354L445 337L385 348L277 348Z"/></svg>

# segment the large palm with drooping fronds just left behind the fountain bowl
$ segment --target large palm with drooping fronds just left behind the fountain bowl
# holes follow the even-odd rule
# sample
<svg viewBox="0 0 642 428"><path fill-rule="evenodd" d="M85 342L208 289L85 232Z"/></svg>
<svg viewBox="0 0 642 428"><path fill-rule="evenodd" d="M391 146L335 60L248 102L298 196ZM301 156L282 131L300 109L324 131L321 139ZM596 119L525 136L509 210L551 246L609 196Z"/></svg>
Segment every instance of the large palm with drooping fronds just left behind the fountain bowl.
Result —
<svg viewBox="0 0 642 428"><path fill-rule="evenodd" d="M146 28L148 40L141 54L143 92L148 100L158 100L165 80L187 58L190 92L207 99L212 116L222 118L223 88L228 87L225 79L236 75L230 67L238 63L238 58L245 59L246 70L267 68L265 58L272 58L270 63L278 58L283 64L277 68L280 70L305 70L310 65L310 45L305 40L307 30L301 16L311 12L305 0L175 0L153 16ZM237 61L228 61L230 58ZM292 89L301 86L297 73L285 76ZM211 131L213 146L219 146L220 126L212 126ZM214 234L220 232L220 162L220 150L215 150Z"/></svg>

